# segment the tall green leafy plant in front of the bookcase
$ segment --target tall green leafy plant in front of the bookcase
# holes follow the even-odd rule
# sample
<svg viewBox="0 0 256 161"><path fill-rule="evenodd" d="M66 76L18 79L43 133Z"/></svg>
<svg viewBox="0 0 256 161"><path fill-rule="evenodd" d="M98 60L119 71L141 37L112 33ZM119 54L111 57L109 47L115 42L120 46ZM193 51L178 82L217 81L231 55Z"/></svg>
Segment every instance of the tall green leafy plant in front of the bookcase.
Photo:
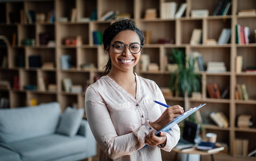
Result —
<svg viewBox="0 0 256 161"><path fill-rule="evenodd" d="M177 69L171 74L169 87L172 92L175 91L175 96L184 96L185 111L189 109L189 96L192 92L200 91L201 75L195 72L195 58L192 54L186 57L186 54L182 50L171 49L172 56L169 59L177 64ZM201 116L196 116L198 112L193 113L186 120L199 123L200 132L204 134L204 126L202 124ZM200 115L200 114L198 114Z"/></svg>

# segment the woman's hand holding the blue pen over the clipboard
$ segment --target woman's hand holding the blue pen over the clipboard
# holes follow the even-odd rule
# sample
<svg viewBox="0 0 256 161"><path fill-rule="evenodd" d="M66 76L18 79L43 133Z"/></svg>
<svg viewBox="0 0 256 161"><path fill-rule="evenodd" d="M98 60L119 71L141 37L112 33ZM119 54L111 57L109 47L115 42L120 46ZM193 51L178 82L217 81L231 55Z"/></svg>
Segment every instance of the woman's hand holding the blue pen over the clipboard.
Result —
<svg viewBox="0 0 256 161"><path fill-rule="evenodd" d="M168 107L156 121L150 123L150 126L158 131L162 129L162 127L167 125L169 122L173 121L173 119L182 115L183 113L184 109L180 105Z"/></svg>

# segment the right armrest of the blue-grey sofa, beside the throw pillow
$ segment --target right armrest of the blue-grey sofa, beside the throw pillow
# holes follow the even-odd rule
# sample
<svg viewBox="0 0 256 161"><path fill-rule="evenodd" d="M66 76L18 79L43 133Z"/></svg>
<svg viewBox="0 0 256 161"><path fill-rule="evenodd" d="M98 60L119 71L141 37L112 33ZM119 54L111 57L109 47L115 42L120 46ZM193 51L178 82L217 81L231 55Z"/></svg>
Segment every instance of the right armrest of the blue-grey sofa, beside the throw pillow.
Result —
<svg viewBox="0 0 256 161"><path fill-rule="evenodd" d="M87 140L88 149L87 152L90 154L88 157L96 156L97 154L97 143L94 139L92 131L90 129L89 123L87 120L82 120L79 130L77 132L78 135L84 136Z"/></svg>

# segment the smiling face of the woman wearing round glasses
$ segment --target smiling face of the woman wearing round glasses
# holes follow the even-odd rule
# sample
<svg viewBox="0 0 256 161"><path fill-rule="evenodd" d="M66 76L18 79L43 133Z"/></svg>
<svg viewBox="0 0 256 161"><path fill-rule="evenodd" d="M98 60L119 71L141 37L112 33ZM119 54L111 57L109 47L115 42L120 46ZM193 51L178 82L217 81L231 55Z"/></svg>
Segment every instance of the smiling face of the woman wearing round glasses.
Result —
<svg viewBox="0 0 256 161"><path fill-rule="evenodd" d="M106 51L107 51L107 54L110 56L111 63L112 63L111 71L123 71L123 72L127 72L130 70L133 71L133 67L139 61L141 51L139 51L139 53L137 54L132 54L129 50L128 45L135 42L140 44L139 36L136 34L135 31L131 31L131 30L121 31L111 40L110 44L114 45L117 42L125 44L126 47L124 52L122 52L121 54L117 54L114 51L113 46L107 47ZM131 47L131 50L132 50L132 47Z"/></svg>

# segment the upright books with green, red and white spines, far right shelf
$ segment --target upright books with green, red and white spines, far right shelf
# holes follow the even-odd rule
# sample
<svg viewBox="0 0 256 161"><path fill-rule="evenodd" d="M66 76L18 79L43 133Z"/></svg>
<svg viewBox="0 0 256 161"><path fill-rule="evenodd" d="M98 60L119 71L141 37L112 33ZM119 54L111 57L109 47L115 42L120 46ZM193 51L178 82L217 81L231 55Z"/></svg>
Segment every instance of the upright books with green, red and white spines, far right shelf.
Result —
<svg viewBox="0 0 256 161"><path fill-rule="evenodd" d="M239 45L249 44L250 29L240 24L236 25L236 43Z"/></svg>

